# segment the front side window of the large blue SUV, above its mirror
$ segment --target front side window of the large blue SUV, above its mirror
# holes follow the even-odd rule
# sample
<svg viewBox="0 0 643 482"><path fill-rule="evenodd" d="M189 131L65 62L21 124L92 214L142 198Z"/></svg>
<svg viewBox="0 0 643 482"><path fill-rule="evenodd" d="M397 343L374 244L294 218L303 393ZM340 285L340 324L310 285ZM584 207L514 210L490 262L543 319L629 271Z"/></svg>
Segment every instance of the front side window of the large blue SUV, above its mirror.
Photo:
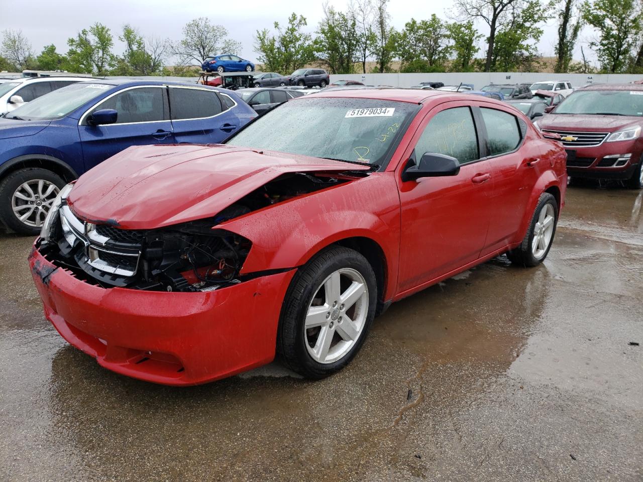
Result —
<svg viewBox="0 0 643 482"><path fill-rule="evenodd" d="M163 120L163 89L143 87L116 94L101 102L98 109L116 109L117 124L129 122L152 122Z"/></svg>

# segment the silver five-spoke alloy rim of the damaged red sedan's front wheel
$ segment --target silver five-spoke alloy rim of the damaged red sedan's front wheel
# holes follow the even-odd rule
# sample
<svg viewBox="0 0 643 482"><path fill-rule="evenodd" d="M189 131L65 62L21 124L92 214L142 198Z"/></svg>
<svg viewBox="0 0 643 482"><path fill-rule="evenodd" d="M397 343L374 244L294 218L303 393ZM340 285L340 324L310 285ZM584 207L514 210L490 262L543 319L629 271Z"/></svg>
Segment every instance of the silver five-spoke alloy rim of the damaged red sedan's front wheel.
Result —
<svg viewBox="0 0 643 482"><path fill-rule="evenodd" d="M320 363L336 362L358 341L368 317L368 285L350 268L333 272L312 296L303 326L306 349Z"/></svg>

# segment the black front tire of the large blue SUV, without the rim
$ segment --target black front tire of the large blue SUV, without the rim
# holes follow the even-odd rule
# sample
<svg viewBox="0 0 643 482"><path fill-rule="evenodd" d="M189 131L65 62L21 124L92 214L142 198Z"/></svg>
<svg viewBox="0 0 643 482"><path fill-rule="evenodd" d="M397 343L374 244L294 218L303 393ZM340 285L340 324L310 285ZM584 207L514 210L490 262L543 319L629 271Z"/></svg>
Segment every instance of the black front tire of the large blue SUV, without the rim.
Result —
<svg viewBox="0 0 643 482"><path fill-rule="evenodd" d="M15 190L17 190L21 184L34 179L44 179L44 181L55 184L59 189L66 184L59 175L42 168L20 169L12 172L0 182L0 219L8 228L13 229L21 235L35 236L41 231L41 228L23 224L23 222L16 217L11 204Z"/></svg>

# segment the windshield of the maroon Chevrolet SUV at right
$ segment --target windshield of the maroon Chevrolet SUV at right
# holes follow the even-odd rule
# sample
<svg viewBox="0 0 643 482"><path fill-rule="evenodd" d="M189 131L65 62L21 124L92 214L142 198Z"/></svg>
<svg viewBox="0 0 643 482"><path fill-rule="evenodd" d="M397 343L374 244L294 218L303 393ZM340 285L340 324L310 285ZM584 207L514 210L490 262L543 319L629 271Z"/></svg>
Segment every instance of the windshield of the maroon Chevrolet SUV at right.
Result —
<svg viewBox="0 0 643 482"><path fill-rule="evenodd" d="M576 91L556 107L556 114L643 116L643 91Z"/></svg>

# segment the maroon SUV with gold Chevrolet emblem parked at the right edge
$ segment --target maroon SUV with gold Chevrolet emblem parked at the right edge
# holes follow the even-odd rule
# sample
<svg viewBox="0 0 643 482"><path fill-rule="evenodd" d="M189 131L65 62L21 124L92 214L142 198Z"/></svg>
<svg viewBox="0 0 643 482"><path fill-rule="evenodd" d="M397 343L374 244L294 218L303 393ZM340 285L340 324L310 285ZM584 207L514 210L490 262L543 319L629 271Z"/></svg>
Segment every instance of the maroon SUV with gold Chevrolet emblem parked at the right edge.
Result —
<svg viewBox="0 0 643 482"><path fill-rule="evenodd" d="M589 85L536 123L556 132L571 177L622 179L643 188L643 85Z"/></svg>

